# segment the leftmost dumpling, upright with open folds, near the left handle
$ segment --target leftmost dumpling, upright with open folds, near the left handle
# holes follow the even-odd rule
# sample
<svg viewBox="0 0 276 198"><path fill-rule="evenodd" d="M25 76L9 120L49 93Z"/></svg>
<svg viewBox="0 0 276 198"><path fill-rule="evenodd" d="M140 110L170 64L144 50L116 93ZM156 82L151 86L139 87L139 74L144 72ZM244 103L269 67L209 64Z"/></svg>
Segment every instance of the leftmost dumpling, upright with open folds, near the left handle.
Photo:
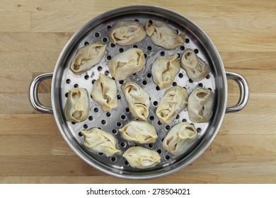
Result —
<svg viewBox="0 0 276 198"><path fill-rule="evenodd" d="M64 115L69 122L86 120L89 111L88 93L84 88L71 88L64 107Z"/></svg>

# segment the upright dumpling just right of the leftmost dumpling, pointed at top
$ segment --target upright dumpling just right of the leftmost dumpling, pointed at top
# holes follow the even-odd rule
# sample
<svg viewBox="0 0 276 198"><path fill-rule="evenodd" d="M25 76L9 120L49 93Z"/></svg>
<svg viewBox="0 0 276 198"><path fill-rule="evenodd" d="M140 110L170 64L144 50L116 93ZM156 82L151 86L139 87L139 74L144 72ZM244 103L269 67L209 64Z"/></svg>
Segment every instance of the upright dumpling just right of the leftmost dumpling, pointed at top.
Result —
<svg viewBox="0 0 276 198"><path fill-rule="evenodd" d="M94 82L91 92L93 100L99 103L103 111L112 110L117 107L117 86L115 81L100 73L99 78Z"/></svg>

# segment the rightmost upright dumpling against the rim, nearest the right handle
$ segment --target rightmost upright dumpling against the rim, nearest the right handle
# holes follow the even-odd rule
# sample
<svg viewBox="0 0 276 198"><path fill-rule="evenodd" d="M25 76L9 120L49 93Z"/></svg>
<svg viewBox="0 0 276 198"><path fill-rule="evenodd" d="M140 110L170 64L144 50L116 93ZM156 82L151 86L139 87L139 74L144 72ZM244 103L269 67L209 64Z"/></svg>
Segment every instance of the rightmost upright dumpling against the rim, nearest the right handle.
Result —
<svg viewBox="0 0 276 198"><path fill-rule="evenodd" d="M192 122L208 122L213 115L214 93L197 87L189 96L188 113Z"/></svg>

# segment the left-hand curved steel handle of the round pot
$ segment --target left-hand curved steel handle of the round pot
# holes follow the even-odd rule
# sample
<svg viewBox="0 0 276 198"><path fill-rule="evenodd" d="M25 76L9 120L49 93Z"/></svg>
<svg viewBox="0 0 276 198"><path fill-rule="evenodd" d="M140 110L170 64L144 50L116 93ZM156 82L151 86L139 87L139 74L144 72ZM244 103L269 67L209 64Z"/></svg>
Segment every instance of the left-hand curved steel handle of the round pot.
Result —
<svg viewBox="0 0 276 198"><path fill-rule="evenodd" d="M40 74L36 76L30 83L30 103L36 110L39 110L40 112L53 113L52 107L46 107L45 105L42 105L38 99L38 86L40 82L52 78L52 76L53 73Z"/></svg>

